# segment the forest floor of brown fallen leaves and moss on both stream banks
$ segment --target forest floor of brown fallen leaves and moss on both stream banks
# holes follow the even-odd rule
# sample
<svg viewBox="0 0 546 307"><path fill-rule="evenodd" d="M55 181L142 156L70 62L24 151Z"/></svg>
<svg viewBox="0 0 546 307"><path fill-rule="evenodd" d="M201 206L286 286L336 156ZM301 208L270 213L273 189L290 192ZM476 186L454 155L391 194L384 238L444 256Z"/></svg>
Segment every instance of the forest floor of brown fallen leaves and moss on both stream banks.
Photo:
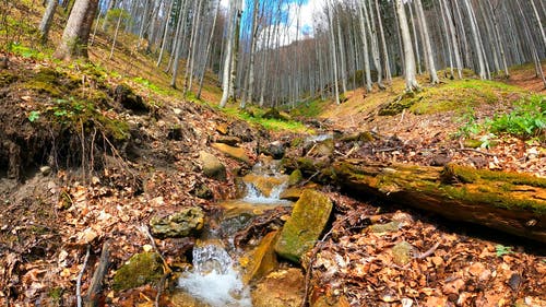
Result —
<svg viewBox="0 0 546 307"><path fill-rule="evenodd" d="M300 137L296 134L301 130L268 131L211 106L219 94L212 78L205 102L194 102L169 88L167 74L157 73L133 43L120 44L112 61L107 60L107 45L98 38L92 48L96 66L59 63L21 47L9 55L9 68L0 69L2 306L74 306L79 278L86 293L107 239L114 270L106 276L102 303L151 306L155 287L124 293L111 288L115 270L150 248L141 225L156 214L193 205L212 214L217 201L236 197L237 178L260 158L260 144L288 144ZM314 133L378 135L371 155L337 149L349 157L455 162L544 177L541 135L492 135L480 126L514 110L517 102L544 94L533 75L532 67L521 67L508 84L472 76L443 80L401 97L405 110L391 104L403 92L396 79L385 92L365 96L357 90L346 93L348 99L340 106L313 104L293 116L318 118L322 129L308 129ZM123 84L142 97L144 109L122 104L116 90ZM389 105L395 114L380 116ZM250 163L210 146L224 134L245 140L240 146ZM202 174L201 151L226 165L226 181ZM209 196L200 193L203 188ZM349 198L336 187L322 189L334 201L334 222L316 250L310 302L325 297L332 304L314 306L546 306L544 246L408 210L403 203L388 205ZM395 226L370 231L365 228L368 216ZM156 241L167 262L186 260L185 241ZM402 241L414 251L405 264L393 252Z"/></svg>

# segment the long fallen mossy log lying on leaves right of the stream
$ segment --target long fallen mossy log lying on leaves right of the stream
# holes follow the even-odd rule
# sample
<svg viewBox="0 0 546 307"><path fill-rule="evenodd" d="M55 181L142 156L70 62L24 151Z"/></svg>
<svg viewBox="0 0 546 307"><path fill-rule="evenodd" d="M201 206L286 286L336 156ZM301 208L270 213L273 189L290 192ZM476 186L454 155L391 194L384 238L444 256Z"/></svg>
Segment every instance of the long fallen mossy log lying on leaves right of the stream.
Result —
<svg viewBox="0 0 546 307"><path fill-rule="evenodd" d="M471 167L380 164L363 160L329 166L299 158L288 163L304 174L354 193L371 193L399 204L435 212L546 243L546 179Z"/></svg>

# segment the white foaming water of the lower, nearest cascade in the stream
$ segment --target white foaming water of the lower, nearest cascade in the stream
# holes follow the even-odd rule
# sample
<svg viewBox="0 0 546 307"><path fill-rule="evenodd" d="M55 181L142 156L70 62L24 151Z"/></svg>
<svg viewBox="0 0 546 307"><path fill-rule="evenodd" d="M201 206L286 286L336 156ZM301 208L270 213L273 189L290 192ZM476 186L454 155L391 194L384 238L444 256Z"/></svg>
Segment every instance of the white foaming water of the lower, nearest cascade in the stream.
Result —
<svg viewBox="0 0 546 307"><path fill-rule="evenodd" d="M232 257L215 244L193 248L193 269L178 280L191 296L212 307L251 307L250 291L234 269Z"/></svg>

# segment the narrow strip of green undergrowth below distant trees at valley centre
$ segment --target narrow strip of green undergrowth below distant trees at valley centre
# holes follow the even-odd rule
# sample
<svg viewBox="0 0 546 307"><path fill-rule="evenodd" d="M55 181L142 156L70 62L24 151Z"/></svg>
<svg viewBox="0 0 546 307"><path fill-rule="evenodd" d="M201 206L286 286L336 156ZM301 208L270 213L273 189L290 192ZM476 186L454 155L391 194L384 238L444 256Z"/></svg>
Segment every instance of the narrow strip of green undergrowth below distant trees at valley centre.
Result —
<svg viewBox="0 0 546 307"><path fill-rule="evenodd" d="M273 131L292 131L292 132L309 132L304 123L296 120L282 120L274 118L263 118L265 110L260 108L249 107L246 110L241 110L237 107L226 107L222 109L225 114L230 115L235 118L245 120L252 125L259 125L268 130Z"/></svg>

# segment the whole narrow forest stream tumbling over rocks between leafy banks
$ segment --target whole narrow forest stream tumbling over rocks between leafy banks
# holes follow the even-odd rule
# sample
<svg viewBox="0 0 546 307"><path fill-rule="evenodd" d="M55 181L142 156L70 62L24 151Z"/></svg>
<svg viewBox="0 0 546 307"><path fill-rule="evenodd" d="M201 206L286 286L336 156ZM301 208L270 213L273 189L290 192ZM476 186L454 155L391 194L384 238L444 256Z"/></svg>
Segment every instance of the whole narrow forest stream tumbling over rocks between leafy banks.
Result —
<svg viewBox="0 0 546 307"><path fill-rule="evenodd" d="M245 257L245 250L237 247L234 239L253 220L276 208L292 206L290 201L281 199L288 176L278 173L278 161L256 164L252 172L241 178L244 196L219 203L221 213L209 217L211 221L207 221L192 251L192 268L183 272L178 281L180 292L197 299L191 306L252 306L249 272L241 268L239 259ZM180 293L174 296L188 300ZM183 304L187 303L179 304L186 306Z"/></svg>

